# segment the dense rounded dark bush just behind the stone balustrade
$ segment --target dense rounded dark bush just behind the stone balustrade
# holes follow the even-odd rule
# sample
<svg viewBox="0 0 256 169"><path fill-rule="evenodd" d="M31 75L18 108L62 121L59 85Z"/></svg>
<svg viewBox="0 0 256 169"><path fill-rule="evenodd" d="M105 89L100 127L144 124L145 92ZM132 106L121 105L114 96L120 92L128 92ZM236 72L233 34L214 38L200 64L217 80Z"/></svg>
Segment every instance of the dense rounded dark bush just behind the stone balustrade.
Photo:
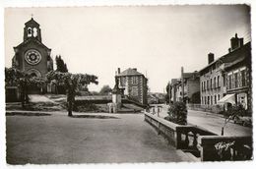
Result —
<svg viewBox="0 0 256 169"><path fill-rule="evenodd" d="M187 107L184 102L174 102L168 109L169 117L167 120L178 125L187 124Z"/></svg>

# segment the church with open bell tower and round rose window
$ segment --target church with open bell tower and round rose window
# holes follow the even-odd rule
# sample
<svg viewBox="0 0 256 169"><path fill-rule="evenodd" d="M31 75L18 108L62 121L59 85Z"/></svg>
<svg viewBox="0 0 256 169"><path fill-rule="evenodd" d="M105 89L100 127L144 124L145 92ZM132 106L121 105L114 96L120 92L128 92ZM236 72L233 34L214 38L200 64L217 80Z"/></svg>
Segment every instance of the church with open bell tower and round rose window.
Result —
<svg viewBox="0 0 256 169"><path fill-rule="evenodd" d="M45 78L46 74L53 70L53 60L50 57L51 49L45 46L41 40L39 24L33 18L25 23L23 42L14 47L15 55L12 59L12 67L28 73L32 76ZM50 92L47 85L40 89L31 89L31 93Z"/></svg>

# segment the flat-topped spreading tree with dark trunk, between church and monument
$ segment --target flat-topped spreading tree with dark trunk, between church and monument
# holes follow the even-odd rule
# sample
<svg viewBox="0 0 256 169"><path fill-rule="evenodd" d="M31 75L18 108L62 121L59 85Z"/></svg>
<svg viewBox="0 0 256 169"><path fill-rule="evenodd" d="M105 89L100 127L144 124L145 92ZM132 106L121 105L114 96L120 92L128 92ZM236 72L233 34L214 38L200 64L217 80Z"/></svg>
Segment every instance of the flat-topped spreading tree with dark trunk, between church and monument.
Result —
<svg viewBox="0 0 256 169"><path fill-rule="evenodd" d="M46 75L47 81L54 84L64 85L67 95L68 116L72 116L72 110L75 105L76 91L81 85L98 84L97 77L87 74L70 74L51 71Z"/></svg>

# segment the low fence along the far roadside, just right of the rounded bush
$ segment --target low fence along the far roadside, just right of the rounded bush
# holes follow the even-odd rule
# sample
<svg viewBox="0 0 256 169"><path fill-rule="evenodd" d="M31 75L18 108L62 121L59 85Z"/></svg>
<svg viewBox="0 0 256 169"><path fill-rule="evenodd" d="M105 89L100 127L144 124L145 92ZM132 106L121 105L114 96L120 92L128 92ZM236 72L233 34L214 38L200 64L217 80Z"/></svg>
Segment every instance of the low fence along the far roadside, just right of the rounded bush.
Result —
<svg viewBox="0 0 256 169"><path fill-rule="evenodd" d="M206 111L212 113L220 113L224 110L223 105L209 105L209 104L187 104L187 109L197 110L197 111Z"/></svg>

